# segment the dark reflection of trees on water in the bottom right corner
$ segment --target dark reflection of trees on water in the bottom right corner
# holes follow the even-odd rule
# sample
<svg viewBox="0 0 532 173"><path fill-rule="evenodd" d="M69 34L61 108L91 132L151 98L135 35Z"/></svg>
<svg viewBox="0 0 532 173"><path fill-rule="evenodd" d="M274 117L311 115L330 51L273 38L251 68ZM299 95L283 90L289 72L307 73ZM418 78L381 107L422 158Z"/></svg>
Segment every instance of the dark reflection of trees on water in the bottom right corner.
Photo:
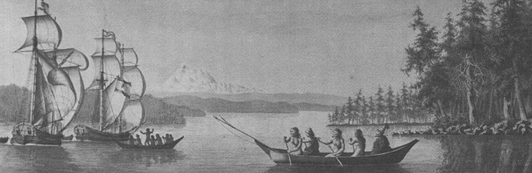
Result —
<svg viewBox="0 0 532 173"><path fill-rule="evenodd" d="M438 172L532 172L532 139L524 136L444 136Z"/></svg>

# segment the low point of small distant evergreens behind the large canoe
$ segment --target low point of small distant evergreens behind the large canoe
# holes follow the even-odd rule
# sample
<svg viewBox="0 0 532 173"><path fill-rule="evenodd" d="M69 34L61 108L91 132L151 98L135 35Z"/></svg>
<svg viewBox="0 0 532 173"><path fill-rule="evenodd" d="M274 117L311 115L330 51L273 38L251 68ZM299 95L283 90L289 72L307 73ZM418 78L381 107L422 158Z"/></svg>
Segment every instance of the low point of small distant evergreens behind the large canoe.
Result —
<svg viewBox="0 0 532 173"><path fill-rule="evenodd" d="M328 114L330 125L379 125L383 123L427 123L432 122L434 112L423 107L416 91L403 84L399 92L391 86L384 93L381 86L375 95L366 96L359 90L355 98L349 97L342 108Z"/></svg>

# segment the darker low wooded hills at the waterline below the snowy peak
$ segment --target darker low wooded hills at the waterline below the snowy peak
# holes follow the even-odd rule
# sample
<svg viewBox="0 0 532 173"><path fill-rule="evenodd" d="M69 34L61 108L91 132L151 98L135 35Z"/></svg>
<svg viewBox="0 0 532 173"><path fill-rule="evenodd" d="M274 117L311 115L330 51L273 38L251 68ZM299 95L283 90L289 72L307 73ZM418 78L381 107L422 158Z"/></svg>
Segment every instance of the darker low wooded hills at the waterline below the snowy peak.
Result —
<svg viewBox="0 0 532 173"><path fill-rule="evenodd" d="M251 100L245 102L233 102L220 98L200 98L192 95L181 95L163 98L164 102L174 105L182 105L191 109L215 113L298 113L299 109L287 102L265 102Z"/></svg>

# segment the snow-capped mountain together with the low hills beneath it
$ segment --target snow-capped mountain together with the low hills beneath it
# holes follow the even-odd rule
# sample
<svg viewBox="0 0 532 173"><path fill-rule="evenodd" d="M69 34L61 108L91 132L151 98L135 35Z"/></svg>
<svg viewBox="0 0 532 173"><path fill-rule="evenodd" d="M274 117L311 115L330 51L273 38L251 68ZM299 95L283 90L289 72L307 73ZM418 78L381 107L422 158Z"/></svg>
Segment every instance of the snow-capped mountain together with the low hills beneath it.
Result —
<svg viewBox="0 0 532 173"><path fill-rule="evenodd" d="M157 91L146 93L164 102L209 112L297 113L334 111L347 98L319 93L265 93L261 89L217 82L201 69L181 65Z"/></svg>

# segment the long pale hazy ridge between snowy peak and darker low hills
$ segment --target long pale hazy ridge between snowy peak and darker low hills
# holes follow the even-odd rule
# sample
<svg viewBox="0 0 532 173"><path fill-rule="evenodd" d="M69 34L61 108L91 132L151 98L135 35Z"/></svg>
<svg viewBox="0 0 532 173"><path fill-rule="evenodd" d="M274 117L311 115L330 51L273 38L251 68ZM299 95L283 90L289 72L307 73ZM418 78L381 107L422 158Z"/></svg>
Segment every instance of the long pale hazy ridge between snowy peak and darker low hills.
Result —
<svg viewBox="0 0 532 173"><path fill-rule="evenodd" d="M246 102L251 100L263 100L266 102L287 102L290 104L306 102L310 104L321 104L342 107L347 102L347 98L337 95L327 95L320 93L239 93L239 94L219 94L219 93L174 93L166 91L147 91L157 98L168 98L179 95L191 95L199 98L221 98L232 102Z"/></svg>

